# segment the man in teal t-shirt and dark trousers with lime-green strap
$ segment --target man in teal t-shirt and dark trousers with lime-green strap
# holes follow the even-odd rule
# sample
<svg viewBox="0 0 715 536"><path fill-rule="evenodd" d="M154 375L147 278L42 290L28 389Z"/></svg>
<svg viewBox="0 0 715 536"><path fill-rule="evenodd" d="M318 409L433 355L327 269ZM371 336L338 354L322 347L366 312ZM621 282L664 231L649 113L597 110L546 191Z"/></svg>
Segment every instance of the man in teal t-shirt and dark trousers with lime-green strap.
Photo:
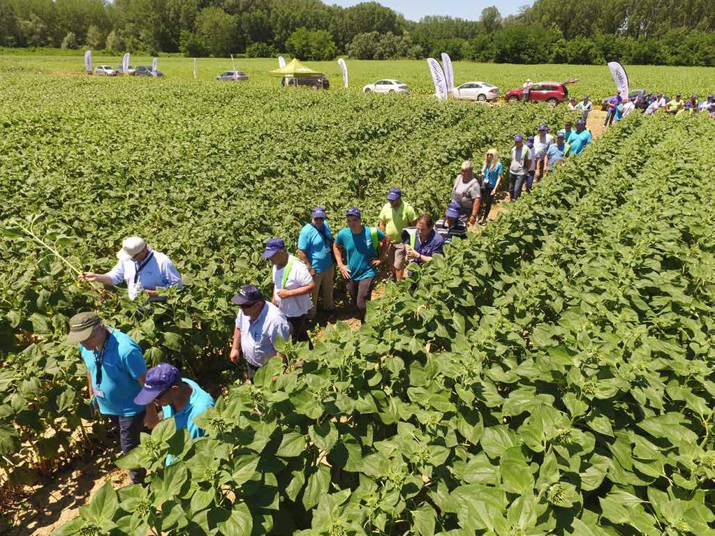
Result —
<svg viewBox="0 0 715 536"><path fill-rule="evenodd" d="M337 268L345 278L352 305L358 309L358 318L360 322L365 322L368 300L378 275L377 268L388 254L390 238L380 229L363 225L360 209L347 209L345 216L347 227L335 235L332 252Z"/></svg>

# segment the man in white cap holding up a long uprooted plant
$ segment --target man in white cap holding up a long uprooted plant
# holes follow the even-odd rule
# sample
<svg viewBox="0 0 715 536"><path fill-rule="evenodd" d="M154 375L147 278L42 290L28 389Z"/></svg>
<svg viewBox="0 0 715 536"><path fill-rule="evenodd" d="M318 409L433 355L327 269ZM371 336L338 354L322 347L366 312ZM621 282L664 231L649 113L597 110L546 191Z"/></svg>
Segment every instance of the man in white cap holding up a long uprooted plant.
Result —
<svg viewBox="0 0 715 536"><path fill-rule="evenodd" d="M144 239L129 237L117 252L119 262L106 274L82 272L82 281L98 281L114 285L124 281L129 289L129 299L135 299L142 290L149 297L157 296L157 287L182 288L181 276L169 257L151 249Z"/></svg>

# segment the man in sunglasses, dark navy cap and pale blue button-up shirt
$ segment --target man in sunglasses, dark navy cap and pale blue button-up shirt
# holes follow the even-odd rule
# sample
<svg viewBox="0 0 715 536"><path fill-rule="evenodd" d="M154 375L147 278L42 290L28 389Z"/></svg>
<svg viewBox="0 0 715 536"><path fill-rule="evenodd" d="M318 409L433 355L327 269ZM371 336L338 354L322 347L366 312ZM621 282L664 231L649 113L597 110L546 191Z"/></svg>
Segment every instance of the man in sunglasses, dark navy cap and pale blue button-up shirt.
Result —
<svg viewBox="0 0 715 536"><path fill-rule="evenodd" d="M285 356L275 349L275 343L278 337L290 339L290 324L280 309L266 302L263 293L255 285L247 284L241 287L231 302L236 304L240 311L236 315L229 359L237 363L243 354L247 377L252 379L253 374L271 357L279 355L285 359Z"/></svg>

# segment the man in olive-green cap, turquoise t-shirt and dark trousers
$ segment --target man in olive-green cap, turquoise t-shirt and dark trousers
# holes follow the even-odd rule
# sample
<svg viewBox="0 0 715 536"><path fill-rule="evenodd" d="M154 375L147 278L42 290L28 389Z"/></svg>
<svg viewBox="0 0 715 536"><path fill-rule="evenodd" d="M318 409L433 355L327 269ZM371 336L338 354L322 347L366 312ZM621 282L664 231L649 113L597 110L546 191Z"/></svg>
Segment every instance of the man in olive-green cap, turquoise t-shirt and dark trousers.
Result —
<svg viewBox="0 0 715 536"><path fill-rule="evenodd" d="M65 344L78 343L87 366L90 403L117 427L119 445L127 454L139 445L139 435L144 430L144 406L134 403L147 372L142 349L129 335L105 326L93 312L69 319ZM156 412L150 412L149 417L156 420ZM144 469L129 471L132 484L141 484L146 475Z"/></svg>

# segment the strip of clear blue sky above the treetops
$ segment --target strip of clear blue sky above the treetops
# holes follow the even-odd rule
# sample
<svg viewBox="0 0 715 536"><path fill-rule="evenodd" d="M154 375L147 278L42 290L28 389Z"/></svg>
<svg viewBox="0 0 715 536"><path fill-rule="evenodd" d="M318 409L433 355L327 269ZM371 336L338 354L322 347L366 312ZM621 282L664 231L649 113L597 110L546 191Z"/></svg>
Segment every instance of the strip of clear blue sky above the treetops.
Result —
<svg viewBox="0 0 715 536"><path fill-rule="evenodd" d="M323 0L325 4L337 4L342 7L354 6L368 0ZM502 15L513 15L519 7L531 4L531 0L378 0L405 18L418 21L425 15L449 15L460 19L477 20L482 9L497 6Z"/></svg>

